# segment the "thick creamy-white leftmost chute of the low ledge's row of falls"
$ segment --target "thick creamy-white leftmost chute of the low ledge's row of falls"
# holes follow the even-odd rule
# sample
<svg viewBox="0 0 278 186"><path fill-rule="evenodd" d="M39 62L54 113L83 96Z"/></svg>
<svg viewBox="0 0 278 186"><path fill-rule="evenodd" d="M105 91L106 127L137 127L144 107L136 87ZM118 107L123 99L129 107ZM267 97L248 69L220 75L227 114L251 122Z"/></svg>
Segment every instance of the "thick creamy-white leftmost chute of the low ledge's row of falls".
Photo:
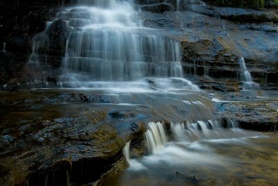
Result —
<svg viewBox="0 0 278 186"><path fill-rule="evenodd" d="M150 122L147 127L148 129L145 132L147 151L156 153L167 142L165 126L161 122Z"/></svg>

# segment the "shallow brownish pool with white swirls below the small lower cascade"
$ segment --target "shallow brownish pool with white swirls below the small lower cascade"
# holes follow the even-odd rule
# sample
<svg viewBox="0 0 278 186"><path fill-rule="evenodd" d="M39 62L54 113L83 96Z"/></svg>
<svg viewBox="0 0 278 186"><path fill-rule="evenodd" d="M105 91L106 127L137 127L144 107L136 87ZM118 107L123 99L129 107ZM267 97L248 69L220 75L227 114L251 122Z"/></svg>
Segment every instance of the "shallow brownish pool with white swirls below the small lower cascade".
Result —
<svg viewBox="0 0 278 186"><path fill-rule="evenodd" d="M172 124L161 149L129 159L129 169L102 185L278 185L277 135L215 126L193 139L185 138L193 127ZM161 130L158 124L152 132Z"/></svg>

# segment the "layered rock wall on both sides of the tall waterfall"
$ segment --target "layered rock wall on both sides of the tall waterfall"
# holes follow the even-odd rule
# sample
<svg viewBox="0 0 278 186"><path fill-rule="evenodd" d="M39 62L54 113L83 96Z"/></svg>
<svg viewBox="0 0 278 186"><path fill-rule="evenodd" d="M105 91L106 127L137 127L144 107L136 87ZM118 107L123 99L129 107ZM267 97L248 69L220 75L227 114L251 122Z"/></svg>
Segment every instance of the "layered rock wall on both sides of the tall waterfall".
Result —
<svg viewBox="0 0 278 186"><path fill-rule="evenodd" d="M183 11L172 12L178 8L177 2L136 1L136 5L143 10L140 16L145 19L145 26L164 29L179 40L184 72L193 80L197 79L200 87L224 92L240 90L238 58L243 57L256 83L261 83L263 89L277 89L278 30L274 24L277 22L275 11L215 8L198 5L202 4L199 1L179 1ZM45 87L49 83L55 87L70 29L65 22L56 20L44 30L46 22L54 19L56 14L47 2L43 8L1 8L4 12L0 17L2 90L31 87L24 85L26 82L35 84L34 87ZM20 15L17 12L21 12ZM35 58L30 59L32 52ZM38 60L42 67L35 69L35 65L26 64L28 60Z"/></svg>

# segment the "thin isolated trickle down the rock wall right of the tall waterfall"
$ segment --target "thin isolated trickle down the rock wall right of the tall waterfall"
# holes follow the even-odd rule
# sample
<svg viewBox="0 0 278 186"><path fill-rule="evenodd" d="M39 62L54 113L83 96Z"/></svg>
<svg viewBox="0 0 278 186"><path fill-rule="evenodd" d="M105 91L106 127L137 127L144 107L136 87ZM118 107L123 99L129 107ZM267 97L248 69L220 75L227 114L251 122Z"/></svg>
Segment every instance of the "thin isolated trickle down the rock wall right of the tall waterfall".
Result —
<svg viewBox="0 0 278 186"><path fill-rule="evenodd" d="M239 58L240 63L240 81L243 82L245 90L260 89L258 83L254 83L250 71L247 70L244 58Z"/></svg>

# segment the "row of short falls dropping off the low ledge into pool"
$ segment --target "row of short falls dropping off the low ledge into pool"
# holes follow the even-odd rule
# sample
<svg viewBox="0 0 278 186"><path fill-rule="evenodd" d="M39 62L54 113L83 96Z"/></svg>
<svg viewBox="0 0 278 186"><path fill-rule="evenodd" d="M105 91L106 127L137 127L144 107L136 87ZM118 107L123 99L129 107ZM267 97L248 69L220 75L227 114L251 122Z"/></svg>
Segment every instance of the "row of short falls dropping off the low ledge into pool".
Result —
<svg viewBox="0 0 278 186"><path fill-rule="evenodd" d="M196 140L213 140L227 137L227 133L234 136L241 131L237 121L227 119L225 122L218 120L187 122L186 124L171 124L170 135L167 135L165 124L150 122L145 132L145 143L149 154L156 154L168 142L192 143ZM226 133L227 132L227 133Z"/></svg>

